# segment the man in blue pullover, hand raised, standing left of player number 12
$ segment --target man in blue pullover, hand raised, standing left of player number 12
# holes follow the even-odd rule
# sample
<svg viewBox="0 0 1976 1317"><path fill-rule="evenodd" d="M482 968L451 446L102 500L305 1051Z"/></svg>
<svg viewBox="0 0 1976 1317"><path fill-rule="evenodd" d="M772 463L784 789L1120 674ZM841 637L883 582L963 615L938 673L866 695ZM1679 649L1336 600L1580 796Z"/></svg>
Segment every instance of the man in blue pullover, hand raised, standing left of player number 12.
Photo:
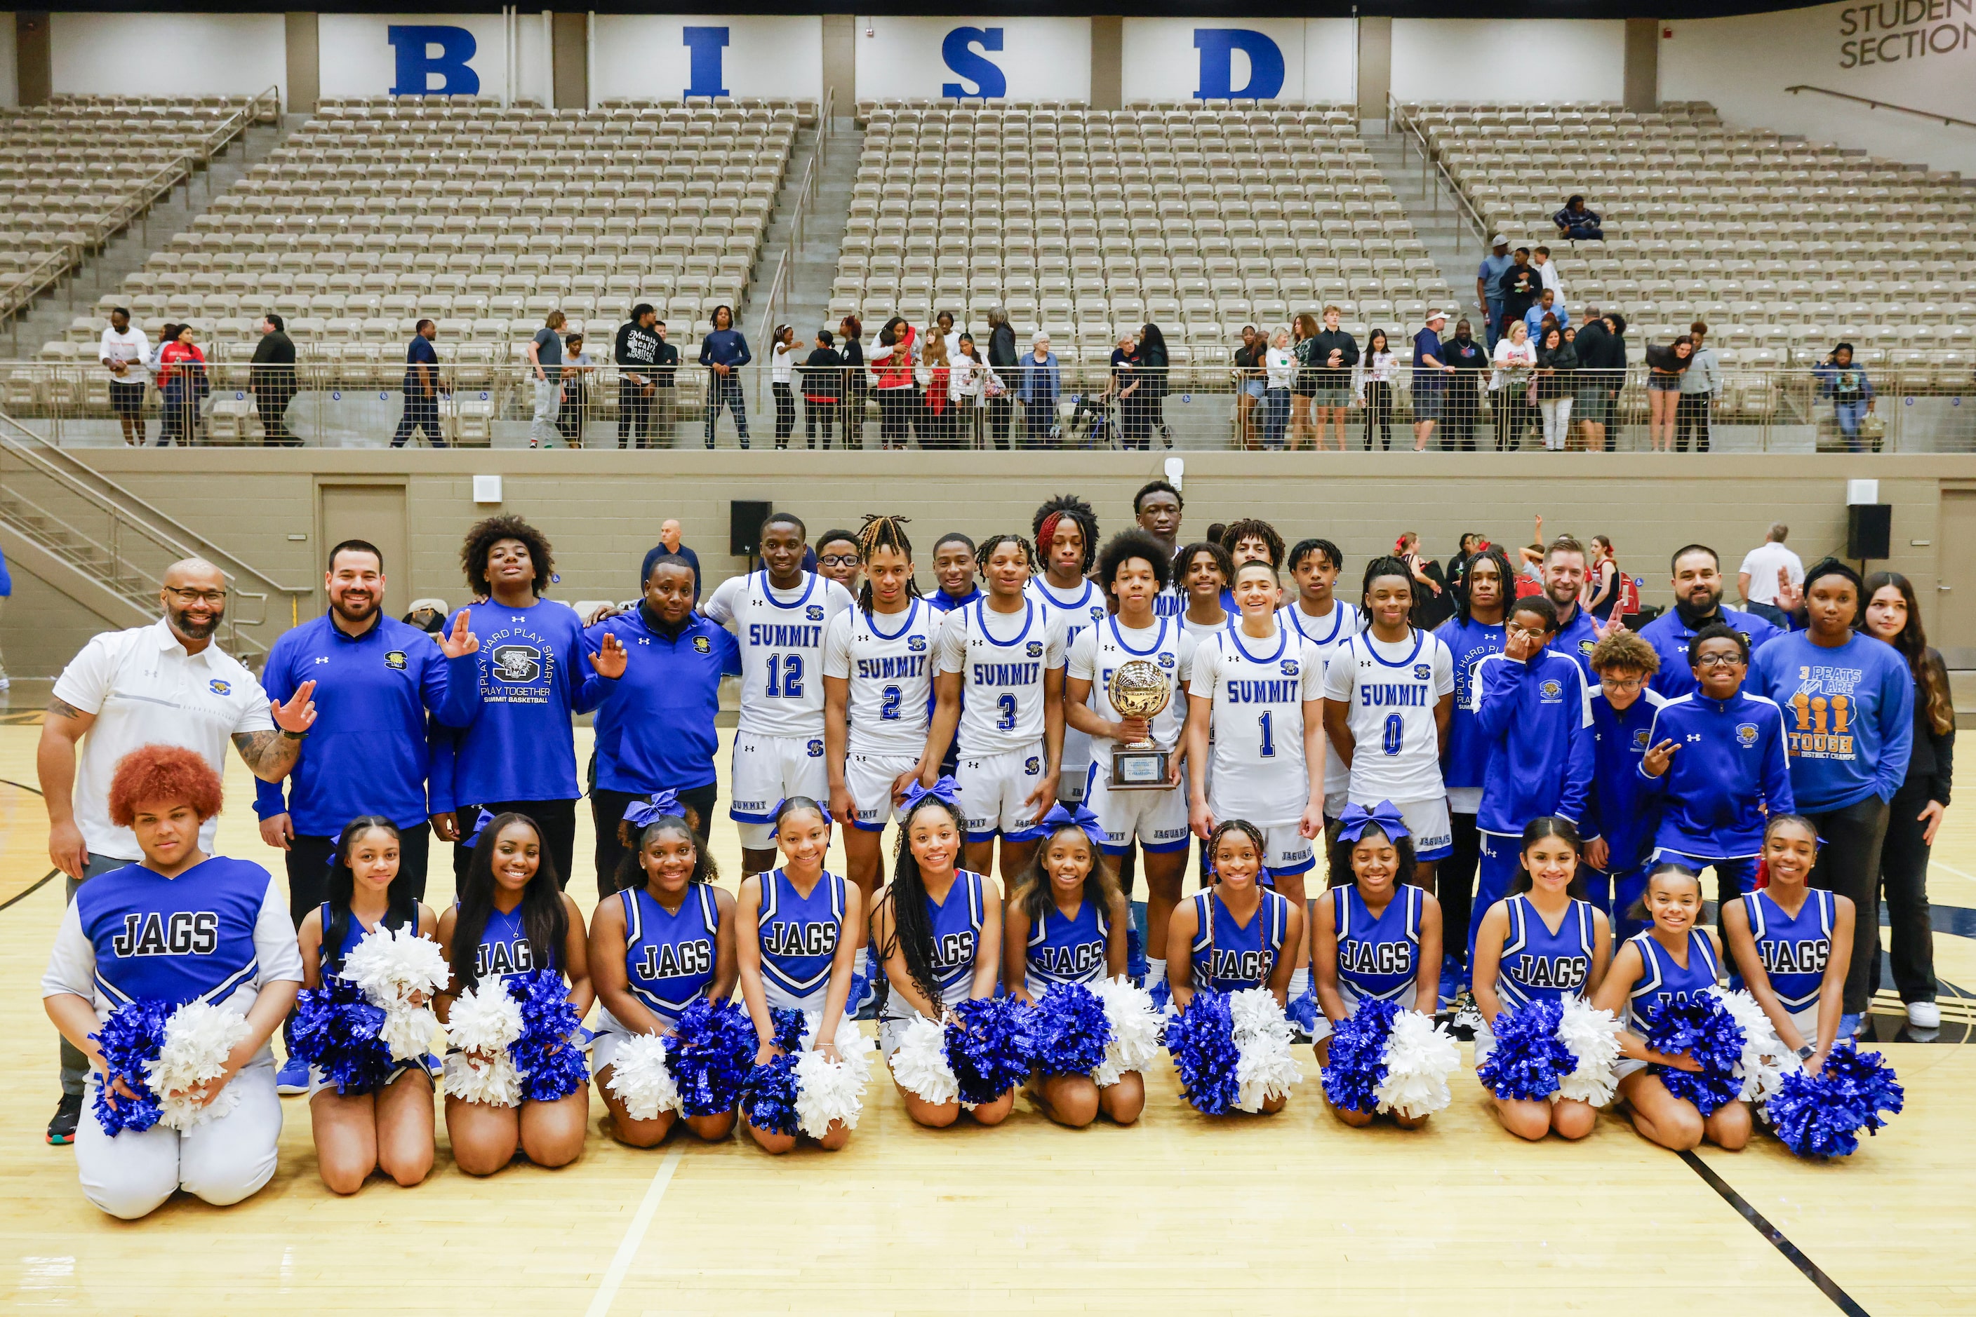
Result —
<svg viewBox="0 0 1976 1317"><path fill-rule="evenodd" d="M609 636L626 656L617 677L605 675L599 658L599 675L589 683L601 699L591 786L599 898L618 891L617 873L626 857L618 823L634 800L676 792L680 806L692 810L701 843L713 823L719 800L713 719L721 711L721 677L741 675L741 642L694 612L694 582L684 557L658 557L644 575L638 606L583 632L585 646L599 654Z"/></svg>

